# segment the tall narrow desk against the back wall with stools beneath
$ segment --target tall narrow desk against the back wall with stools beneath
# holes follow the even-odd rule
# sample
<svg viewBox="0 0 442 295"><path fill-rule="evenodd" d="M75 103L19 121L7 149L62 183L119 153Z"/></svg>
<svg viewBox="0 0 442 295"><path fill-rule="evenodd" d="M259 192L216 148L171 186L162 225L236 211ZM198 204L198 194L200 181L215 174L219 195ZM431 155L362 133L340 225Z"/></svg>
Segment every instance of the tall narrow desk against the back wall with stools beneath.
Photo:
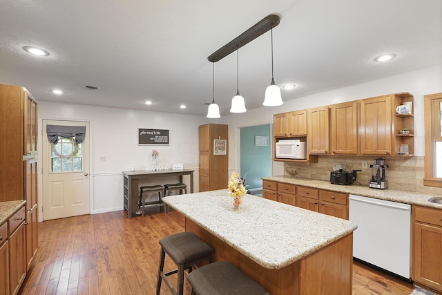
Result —
<svg viewBox="0 0 442 295"><path fill-rule="evenodd" d="M123 185L123 199L124 210L127 210L127 218L132 218L138 209L138 200L140 198L140 180L151 180L159 176L180 176L180 182L184 175L190 175L191 178L191 193L193 193L193 169L183 170L157 170L157 171L123 171L124 185ZM160 184L160 183L157 183Z"/></svg>

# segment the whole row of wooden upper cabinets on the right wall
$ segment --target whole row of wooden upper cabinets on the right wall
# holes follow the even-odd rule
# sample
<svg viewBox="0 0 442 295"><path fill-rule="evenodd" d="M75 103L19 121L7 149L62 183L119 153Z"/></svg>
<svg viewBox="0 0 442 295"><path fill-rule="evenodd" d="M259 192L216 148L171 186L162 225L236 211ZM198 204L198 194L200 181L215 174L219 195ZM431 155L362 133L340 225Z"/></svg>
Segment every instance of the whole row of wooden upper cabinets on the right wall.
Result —
<svg viewBox="0 0 442 295"><path fill-rule="evenodd" d="M273 115L273 144L307 142L306 160L317 155L414 155L413 95L395 93Z"/></svg>

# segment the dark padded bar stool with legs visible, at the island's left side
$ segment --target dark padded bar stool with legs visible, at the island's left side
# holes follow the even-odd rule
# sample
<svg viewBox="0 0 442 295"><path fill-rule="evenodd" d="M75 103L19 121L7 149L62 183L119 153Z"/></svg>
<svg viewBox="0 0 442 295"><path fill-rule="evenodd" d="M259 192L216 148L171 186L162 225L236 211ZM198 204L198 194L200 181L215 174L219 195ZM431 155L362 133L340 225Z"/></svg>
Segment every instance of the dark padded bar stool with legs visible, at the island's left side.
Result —
<svg viewBox="0 0 442 295"><path fill-rule="evenodd" d="M157 295L160 295L162 279L164 279L172 294L182 295L184 288L184 270L188 269L189 273L191 273L192 267L196 263L200 263L204 260L208 260L209 263L212 262L213 248L191 232L186 231L166 236L160 239L160 245L161 253L157 276ZM166 254L177 265L177 269L164 273L164 258ZM178 276L176 290L167 279L167 276L171 274L177 274Z"/></svg>

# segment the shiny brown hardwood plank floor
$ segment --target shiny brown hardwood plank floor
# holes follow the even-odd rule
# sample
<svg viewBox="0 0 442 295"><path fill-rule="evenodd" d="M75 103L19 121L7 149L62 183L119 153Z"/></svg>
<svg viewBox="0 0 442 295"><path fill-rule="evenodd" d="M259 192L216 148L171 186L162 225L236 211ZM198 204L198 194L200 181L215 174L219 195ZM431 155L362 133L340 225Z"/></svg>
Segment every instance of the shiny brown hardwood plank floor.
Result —
<svg viewBox="0 0 442 295"><path fill-rule="evenodd" d="M180 231L184 218L176 211L131 219L115 211L40 222L39 251L20 294L155 294L158 240ZM165 268L173 267L166 258ZM353 272L354 295L412 292L412 285L360 263ZM165 284L162 294L171 294Z"/></svg>

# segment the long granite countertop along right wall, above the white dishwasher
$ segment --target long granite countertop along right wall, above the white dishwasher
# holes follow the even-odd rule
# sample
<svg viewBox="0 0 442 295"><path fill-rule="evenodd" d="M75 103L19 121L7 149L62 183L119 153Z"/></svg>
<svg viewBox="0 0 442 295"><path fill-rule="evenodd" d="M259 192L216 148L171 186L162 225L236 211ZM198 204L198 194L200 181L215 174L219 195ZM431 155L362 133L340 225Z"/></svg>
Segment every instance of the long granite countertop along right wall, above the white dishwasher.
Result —
<svg viewBox="0 0 442 295"><path fill-rule="evenodd" d="M312 187L316 189L325 189L327 191L336 191L339 193L352 193L358 196L365 196L381 200L389 200L393 202L401 202L405 204L414 204L425 207L433 207L442 209L442 204L428 202L430 198L441 198L442 196L418 193L412 191L400 191L397 189L371 189L357 183L349 185L331 184L323 180L310 180L308 178L287 178L283 176L265 177L262 180L270 180L276 182L284 182L288 184L296 184L302 187ZM265 189L265 188L263 188Z"/></svg>

